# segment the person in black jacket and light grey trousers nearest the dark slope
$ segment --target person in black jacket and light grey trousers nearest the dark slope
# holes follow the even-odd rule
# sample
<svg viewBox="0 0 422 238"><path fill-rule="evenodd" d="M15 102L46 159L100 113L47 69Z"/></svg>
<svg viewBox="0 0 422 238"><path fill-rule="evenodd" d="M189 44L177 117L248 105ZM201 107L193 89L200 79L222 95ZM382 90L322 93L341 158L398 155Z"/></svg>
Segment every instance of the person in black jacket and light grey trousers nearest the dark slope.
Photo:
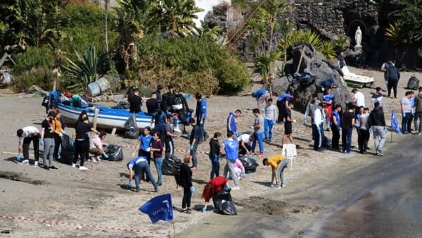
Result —
<svg viewBox="0 0 422 238"><path fill-rule="evenodd" d="M383 156L381 149L385 142L385 118L383 107L376 101L373 106L373 110L369 113L369 134L373 132L373 142L375 144L376 155Z"/></svg>

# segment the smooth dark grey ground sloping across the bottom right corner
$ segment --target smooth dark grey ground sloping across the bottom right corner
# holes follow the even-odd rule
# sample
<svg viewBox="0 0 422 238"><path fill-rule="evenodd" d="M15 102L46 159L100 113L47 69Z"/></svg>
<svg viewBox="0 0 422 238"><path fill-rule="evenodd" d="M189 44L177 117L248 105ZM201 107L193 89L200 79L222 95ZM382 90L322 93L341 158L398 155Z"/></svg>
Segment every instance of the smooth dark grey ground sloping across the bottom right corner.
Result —
<svg viewBox="0 0 422 238"><path fill-rule="evenodd" d="M326 175L302 178L307 185L289 194L266 195L318 206L316 213L279 217L241 211L205 220L182 237L422 237L422 137L405 135L384 152L368 155L377 161L364 168L339 165Z"/></svg>

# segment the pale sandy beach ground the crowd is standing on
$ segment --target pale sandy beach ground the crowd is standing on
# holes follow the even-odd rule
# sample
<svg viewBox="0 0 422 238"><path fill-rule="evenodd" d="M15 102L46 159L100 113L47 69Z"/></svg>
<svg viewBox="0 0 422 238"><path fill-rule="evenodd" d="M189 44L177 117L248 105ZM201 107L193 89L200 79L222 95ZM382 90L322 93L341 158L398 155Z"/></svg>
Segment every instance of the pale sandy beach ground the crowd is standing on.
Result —
<svg viewBox="0 0 422 238"><path fill-rule="evenodd" d="M383 87L383 73L376 70L362 70L351 68L352 73L371 76L376 79L373 88L359 89L365 95L367 107L371 107L371 93L375 87ZM404 87L411 75L422 79L422 73L402 72L399 81L397 99L384 98L386 104L385 120L390 125L391 110L397 113L399 123L399 99L404 96L407 89ZM262 87L260 84L252 85L252 90ZM349 91L351 91L350 88ZM255 99L245 91L237 96L210 96L207 98L208 115L206 130L211 135L214 132L226 134L226 117L230 111L241 109L239 118L240 132L250 129L254 116L252 108L256 107ZM385 94L386 92L384 92ZM417 93L417 92L416 92ZM276 99L276 96L273 96ZM119 101L119 99L116 99ZM196 101L188 99L191 108L195 108ZM264 237L293 237L300 232L300 227L307 219L323 210L317 200L284 202L284 195L295 192L305 193L311 191L309 180L335 180L345 173L352 173L366 165L382 159L374 156L373 139L369 141L369 154L358 154L357 134L353 133L352 154L346 155L339 151L324 150L323 153L312 149L310 124L302 125L304 115L293 111L293 119L298 123L293 125L293 137L300 145L298 158L294 165L286 171L287 187L279 190L269 188L271 178L270 168L262 165L262 158L258 158L260 166L256 173L246 175L241 180L238 191L231 192L239 215L224 216L212 211L202 213L203 200L200 199L204 185L210 177L210 160L207 156L208 142L199 145L198 170L193 171L193 185L196 194L192 198L194 211L191 214L180 213L182 189L176 188L173 176L164 176L162 187L158 193L153 192L151 184L141 184L141 192L132 192L126 189L128 171L126 163L131 158L136 145L136 139L126 139L120 135L108 134L106 141L110 144L120 144L124 148L124 160L120 162L101 161L87 163L87 171L79 171L70 165L57 163L58 170L44 170L34 168L32 165L15 163L18 152L18 139L16 130L27 125L41 128L45 109L41 106L41 98L34 94L12 94L8 89L0 89L1 118L0 124L0 172L20 175L20 181L0 177L0 231L10 230L10 237L166 237L174 232L177 237L216 237L224 234L224 230L231 229L229 220L247 218L248 214L258 213L270 220L272 217L286 218L289 232L271 230ZM111 104L109 104L111 105ZM308 121L310 121L308 119ZM191 127L186 127L188 132ZM66 131L70 134L73 128ZM331 132L326 132L331 139ZM274 138L271 143L265 143L264 156L281 154L281 138L283 125L274 126ZM406 137L418 137L406 135ZM396 133L389 133L388 140L397 141L402 137ZM176 156L182 158L188 151L188 140L177 138ZM383 151L388 151L390 143L385 144ZM30 159L33 160L32 145L30 146ZM40 148L42 151L42 148ZM41 158L40 158L41 161ZM225 165L222 159L220 173ZM151 164L153 175L157 177L155 167ZM233 185L233 182L229 182ZM138 211L138 208L159 194L172 194L174 206L174 223L162 221L151 224L148 215ZM276 203L279 206L267 206ZM306 204L306 205L303 205ZM200 229L198 224L203 227ZM204 227L203 224L207 224ZM216 231L214 227L219 227ZM196 229L198 228L198 229ZM237 227L241 229L241 227ZM287 228L286 228L287 229ZM283 233L280 233L283 232ZM0 234L0 237L6 235Z"/></svg>

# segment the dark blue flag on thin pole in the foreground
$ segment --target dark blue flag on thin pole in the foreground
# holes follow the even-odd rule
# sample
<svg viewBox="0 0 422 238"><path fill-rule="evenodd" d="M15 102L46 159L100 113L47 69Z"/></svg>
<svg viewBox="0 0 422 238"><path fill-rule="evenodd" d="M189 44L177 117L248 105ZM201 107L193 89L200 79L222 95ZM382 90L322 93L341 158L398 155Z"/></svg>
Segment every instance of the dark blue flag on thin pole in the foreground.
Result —
<svg viewBox="0 0 422 238"><path fill-rule="evenodd" d="M143 204L139 211L149 215L151 222L156 223L158 220L166 222L173 220L173 204L172 194L162 194L155 196L150 201Z"/></svg>

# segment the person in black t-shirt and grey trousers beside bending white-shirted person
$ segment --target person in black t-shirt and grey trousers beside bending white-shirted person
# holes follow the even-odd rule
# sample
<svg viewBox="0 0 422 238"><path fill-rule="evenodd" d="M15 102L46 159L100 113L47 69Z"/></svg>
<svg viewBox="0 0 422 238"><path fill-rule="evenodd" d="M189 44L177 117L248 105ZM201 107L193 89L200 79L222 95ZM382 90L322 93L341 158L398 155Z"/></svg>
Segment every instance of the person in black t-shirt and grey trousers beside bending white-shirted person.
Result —
<svg viewBox="0 0 422 238"><path fill-rule="evenodd" d="M53 120L56 117L56 113L53 111L49 112L47 118L44 119L41 123L41 141L39 144L44 146L44 154L42 163L44 169L49 170L50 168L57 169L53 165L53 154L54 154L54 127ZM61 134L61 133L60 133ZM49 165L47 165L47 158L49 159ZM34 167L38 166L38 162L34 163Z"/></svg>

